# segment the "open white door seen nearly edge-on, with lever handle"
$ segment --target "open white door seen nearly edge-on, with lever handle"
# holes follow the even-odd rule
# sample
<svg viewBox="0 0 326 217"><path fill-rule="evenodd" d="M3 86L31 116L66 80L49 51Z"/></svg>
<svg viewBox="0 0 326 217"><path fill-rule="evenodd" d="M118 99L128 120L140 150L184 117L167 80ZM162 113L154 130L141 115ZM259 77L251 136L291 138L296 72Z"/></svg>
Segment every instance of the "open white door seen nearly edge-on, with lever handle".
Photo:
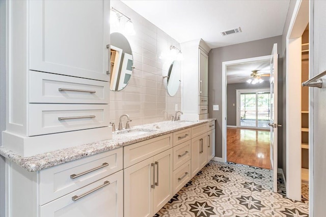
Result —
<svg viewBox="0 0 326 217"><path fill-rule="evenodd" d="M278 101L278 54L277 44L274 44L270 56L270 165L273 178L273 190L277 192L277 128L279 127L277 114Z"/></svg>

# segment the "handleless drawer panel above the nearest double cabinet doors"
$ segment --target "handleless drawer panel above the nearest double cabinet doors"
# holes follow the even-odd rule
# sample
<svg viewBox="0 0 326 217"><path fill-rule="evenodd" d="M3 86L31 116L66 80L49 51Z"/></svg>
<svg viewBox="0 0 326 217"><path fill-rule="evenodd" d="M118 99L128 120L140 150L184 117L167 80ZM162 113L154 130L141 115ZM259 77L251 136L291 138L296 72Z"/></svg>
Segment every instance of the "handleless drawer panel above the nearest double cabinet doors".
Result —
<svg viewBox="0 0 326 217"><path fill-rule="evenodd" d="M159 136L123 147L123 167L127 168L173 147L173 134Z"/></svg>

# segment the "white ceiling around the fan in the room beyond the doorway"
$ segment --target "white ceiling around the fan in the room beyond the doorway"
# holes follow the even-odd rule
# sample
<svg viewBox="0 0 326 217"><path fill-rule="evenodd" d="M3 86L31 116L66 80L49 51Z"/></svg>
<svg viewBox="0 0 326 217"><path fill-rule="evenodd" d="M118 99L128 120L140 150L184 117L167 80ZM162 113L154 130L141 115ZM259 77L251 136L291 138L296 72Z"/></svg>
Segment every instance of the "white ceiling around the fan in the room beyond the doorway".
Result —
<svg viewBox="0 0 326 217"><path fill-rule="evenodd" d="M259 70L260 74L270 74L269 60L227 66L227 83L244 83L250 78L253 70ZM268 76L261 78L264 82L269 81Z"/></svg>

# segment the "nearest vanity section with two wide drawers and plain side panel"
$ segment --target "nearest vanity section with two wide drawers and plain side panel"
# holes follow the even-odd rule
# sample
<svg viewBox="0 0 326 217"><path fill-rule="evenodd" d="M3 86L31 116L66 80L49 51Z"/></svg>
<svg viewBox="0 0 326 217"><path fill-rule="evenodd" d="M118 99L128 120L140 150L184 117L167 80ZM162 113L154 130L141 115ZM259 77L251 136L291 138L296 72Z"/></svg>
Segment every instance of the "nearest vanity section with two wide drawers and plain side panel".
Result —
<svg viewBox="0 0 326 217"><path fill-rule="evenodd" d="M7 162L10 217L123 216L123 149L37 172Z"/></svg>

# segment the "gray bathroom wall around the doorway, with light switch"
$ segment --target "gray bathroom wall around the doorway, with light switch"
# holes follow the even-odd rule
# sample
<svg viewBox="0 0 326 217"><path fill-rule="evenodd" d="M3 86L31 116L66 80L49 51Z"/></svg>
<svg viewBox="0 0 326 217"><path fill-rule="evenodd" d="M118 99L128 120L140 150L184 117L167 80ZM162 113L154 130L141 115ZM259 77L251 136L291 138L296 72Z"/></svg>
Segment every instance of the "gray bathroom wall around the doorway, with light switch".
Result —
<svg viewBox="0 0 326 217"><path fill-rule="evenodd" d="M273 44L278 44L278 53L282 50L282 36L276 36L252 42L211 49L208 54L208 112L209 117L216 118L215 157L222 157L222 62L236 59L270 55ZM283 96L282 55L279 54L279 96ZM219 111L213 111L213 105L220 105ZM279 122L282 123L282 101L279 101ZM282 168L282 130L279 128L279 167Z"/></svg>

